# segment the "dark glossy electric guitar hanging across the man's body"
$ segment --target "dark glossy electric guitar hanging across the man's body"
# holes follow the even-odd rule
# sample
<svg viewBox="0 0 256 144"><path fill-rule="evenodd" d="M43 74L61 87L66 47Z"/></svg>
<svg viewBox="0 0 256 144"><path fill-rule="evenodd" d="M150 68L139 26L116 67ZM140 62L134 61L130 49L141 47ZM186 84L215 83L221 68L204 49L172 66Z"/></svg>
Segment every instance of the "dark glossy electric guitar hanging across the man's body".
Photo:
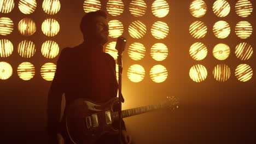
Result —
<svg viewBox="0 0 256 144"><path fill-rule="evenodd" d="M118 133L114 122L118 121L119 113L114 111L118 98L112 98L104 104L94 103L88 99L74 100L66 110L66 130L69 139L75 144L92 144L104 133ZM165 103L147 105L134 109L122 110L122 118L170 107L178 108L175 97L167 97Z"/></svg>

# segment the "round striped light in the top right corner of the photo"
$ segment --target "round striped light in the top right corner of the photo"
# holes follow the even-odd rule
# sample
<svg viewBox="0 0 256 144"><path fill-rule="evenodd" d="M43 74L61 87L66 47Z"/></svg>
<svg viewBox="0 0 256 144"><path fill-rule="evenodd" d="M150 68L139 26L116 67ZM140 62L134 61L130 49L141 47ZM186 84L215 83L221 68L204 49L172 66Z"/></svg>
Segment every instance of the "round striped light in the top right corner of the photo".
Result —
<svg viewBox="0 0 256 144"><path fill-rule="evenodd" d="M253 5L248 0L239 0L235 5L236 14L241 17L247 17L252 14Z"/></svg>

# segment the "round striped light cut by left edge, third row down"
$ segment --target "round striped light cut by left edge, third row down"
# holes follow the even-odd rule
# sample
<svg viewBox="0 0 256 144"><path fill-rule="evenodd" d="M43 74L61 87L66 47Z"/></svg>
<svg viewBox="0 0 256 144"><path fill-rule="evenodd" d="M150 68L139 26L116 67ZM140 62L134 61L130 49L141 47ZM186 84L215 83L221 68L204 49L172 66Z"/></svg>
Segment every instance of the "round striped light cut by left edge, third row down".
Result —
<svg viewBox="0 0 256 144"><path fill-rule="evenodd" d="M0 40L0 57L9 57L13 53L13 44L10 40Z"/></svg>

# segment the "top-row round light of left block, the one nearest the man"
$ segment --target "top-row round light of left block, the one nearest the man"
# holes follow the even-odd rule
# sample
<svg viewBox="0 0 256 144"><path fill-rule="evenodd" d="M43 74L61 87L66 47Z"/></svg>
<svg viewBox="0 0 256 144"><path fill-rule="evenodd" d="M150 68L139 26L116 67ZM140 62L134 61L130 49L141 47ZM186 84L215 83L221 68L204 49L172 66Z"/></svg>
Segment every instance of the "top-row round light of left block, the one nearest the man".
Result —
<svg viewBox="0 0 256 144"><path fill-rule="evenodd" d="M60 1L59 0L44 0L43 10L48 15L57 14L60 11Z"/></svg>

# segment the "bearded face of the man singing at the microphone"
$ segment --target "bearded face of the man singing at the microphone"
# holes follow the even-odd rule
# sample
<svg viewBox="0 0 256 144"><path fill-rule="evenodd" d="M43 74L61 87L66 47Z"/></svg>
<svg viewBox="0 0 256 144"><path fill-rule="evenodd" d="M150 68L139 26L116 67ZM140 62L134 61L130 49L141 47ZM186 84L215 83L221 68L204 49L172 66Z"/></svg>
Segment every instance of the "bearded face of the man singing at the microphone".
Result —
<svg viewBox="0 0 256 144"><path fill-rule="evenodd" d="M95 17L95 27L93 34L95 40L102 45L106 44L108 41L108 22L102 16Z"/></svg>

